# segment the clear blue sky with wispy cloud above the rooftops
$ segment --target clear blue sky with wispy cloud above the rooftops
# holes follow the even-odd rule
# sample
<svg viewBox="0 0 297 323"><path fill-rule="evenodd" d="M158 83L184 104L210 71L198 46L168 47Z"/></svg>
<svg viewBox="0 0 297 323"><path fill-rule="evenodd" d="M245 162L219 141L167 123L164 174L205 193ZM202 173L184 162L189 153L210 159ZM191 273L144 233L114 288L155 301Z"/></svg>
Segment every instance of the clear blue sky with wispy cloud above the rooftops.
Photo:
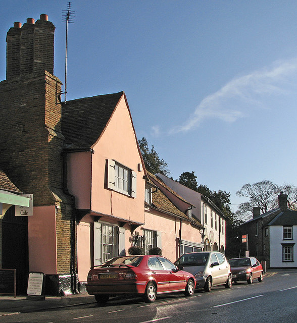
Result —
<svg viewBox="0 0 297 323"><path fill-rule="evenodd" d="M195 172L244 201L245 183L297 185L297 2L73 0L67 99L124 90L137 137L171 176ZM0 0L0 80L6 33L47 14L64 82L67 1Z"/></svg>

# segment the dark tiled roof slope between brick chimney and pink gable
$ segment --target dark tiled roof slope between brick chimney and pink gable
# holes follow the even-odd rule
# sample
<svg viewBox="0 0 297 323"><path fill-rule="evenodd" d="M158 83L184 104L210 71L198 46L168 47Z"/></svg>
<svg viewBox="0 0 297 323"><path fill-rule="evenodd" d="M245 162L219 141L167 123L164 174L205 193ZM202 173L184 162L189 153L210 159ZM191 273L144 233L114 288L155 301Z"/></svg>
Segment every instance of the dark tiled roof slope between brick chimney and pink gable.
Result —
<svg viewBox="0 0 297 323"><path fill-rule="evenodd" d="M69 149L90 149L100 138L124 92L62 104L62 134Z"/></svg>

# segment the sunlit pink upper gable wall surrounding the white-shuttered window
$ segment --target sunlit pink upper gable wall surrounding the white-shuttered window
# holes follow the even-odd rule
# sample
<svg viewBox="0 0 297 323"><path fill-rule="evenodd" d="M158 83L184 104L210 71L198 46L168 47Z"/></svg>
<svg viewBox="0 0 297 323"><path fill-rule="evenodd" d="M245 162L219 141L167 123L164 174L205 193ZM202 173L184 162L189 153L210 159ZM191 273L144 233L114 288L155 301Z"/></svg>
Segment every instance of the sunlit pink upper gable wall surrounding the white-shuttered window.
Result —
<svg viewBox="0 0 297 323"><path fill-rule="evenodd" d="M141 159L124 96L93 150L91 209L129 221L144 222L144 172L142 169L137 171ZM105 188L108 158L117 160L137 173L136 198Z"/></svg>

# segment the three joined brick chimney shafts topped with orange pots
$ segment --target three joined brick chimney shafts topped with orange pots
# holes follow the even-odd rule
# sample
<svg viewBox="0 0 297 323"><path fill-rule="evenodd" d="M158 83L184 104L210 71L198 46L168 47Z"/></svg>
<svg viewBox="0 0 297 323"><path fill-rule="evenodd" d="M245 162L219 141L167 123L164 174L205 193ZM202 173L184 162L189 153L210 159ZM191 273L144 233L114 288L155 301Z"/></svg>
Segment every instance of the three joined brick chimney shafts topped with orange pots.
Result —
<svg viewBox="0 0 297 323"><path fill-rule="evenodd" d="M14 23L7 33L6 79L47 71L54 74L55 26L47 15Z"/></svg>

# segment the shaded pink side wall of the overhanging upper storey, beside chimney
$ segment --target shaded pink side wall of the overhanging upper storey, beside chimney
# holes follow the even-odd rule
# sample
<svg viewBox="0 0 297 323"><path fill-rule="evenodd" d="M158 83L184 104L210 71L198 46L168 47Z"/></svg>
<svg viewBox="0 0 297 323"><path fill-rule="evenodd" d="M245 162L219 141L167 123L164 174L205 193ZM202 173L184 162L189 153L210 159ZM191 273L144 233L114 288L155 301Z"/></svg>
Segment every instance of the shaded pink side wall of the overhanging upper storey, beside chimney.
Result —
<svg viewBox="0 0 297 323"><path fill-rule="evenodd" d="M76 208L89 209L91 199L91 152L67 154L67 187Z"/></svg>

